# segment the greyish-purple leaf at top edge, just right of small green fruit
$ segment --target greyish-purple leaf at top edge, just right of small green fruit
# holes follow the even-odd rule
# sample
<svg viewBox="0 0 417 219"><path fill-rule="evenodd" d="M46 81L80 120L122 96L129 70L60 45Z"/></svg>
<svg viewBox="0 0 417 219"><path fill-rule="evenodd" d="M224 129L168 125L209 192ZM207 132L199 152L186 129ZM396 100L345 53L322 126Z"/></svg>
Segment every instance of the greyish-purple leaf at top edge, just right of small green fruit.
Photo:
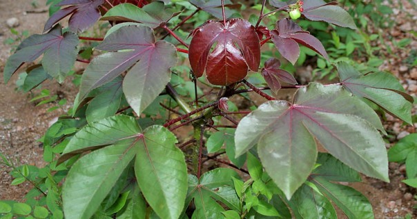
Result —
<svg viewBox="0 0 417 219"><path fill-rule="evenodd" d="M269 4L276 8L282 8L296 2L297 1L295 0L269 0ZM307 0L304 1L301 14L311 21L325 21L327 23L356 30L356 24L355 21L353 21L353 18L343 8L337 6L337 4L336 1L326 3L322 0ZM289 10L289 8L286 8L286 10Z"/></svg>

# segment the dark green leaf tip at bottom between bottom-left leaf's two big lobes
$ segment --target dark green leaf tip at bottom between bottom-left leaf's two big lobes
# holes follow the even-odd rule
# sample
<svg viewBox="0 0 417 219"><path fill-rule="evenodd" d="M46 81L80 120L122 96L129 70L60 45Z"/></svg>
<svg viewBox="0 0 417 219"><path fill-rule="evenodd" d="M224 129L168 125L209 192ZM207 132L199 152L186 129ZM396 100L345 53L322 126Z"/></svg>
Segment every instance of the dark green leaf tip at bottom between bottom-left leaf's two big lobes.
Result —
<svg viewBox="0 0 417 219"><path fill-rule="evenodd" d="M125 209L117 214L117 219L143 219L146 218L146 202L139 192L134 189L132 198L128 199Z"/></svg>

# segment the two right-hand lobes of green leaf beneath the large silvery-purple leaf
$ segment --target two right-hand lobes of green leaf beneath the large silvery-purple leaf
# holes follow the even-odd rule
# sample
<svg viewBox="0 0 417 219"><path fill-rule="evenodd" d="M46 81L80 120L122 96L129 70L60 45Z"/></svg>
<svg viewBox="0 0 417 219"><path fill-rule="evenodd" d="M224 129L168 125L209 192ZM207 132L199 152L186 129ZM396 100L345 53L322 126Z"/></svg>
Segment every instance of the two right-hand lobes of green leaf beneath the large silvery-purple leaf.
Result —
<svg viewBox="0 0 417 219"><path fill-rule="evenodd" d="M359 191L345 185L331 182L360 182L360 175L330 154L320 153L317 163L320 166L313 171L311 183L322 194L338 206L348 218L374 218L371 203Z"/></svg>

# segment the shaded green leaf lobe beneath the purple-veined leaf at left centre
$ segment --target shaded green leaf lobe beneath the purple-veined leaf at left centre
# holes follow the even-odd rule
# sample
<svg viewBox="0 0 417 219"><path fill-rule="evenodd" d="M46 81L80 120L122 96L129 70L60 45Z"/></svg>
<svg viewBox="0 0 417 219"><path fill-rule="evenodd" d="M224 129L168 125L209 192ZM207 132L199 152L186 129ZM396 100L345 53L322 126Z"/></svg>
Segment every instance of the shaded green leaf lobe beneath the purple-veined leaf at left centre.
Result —
<svg viewBox="0 0 417 219"><path fill-rule="evenodd" d="M108 116L113 116L119 110L122 101L122 79L116 78L108 89L101 92L88 104L86 118L88 123L99 121Z"/></svg>

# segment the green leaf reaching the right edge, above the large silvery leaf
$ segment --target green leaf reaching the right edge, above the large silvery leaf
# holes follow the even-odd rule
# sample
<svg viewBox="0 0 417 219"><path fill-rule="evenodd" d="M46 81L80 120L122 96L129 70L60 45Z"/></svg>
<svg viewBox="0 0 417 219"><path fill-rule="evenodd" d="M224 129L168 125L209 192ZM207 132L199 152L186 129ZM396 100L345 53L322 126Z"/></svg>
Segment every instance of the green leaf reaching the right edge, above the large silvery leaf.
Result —
<svg viewBox="0 0 417 219"><path fill-rule="evenodd" d="M393 75L385 72L363 75L345 62L336 66L340 83L349 92L367 98L389 114L411 124L411 107L414 100L405 93L403 86Z"/></svg>

